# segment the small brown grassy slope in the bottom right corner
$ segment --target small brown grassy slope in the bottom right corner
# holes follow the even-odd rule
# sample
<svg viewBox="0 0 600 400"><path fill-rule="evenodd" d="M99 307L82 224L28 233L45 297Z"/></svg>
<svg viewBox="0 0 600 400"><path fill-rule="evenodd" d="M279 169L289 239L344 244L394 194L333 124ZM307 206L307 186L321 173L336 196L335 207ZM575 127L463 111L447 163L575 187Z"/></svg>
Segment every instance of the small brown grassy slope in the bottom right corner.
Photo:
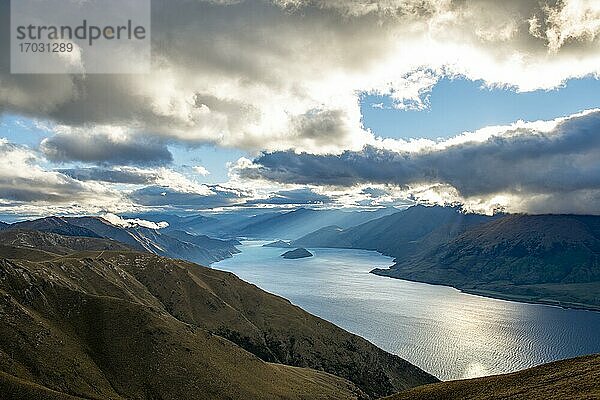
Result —
<svg viewBox="0 0 600 400"><path fill-rule="evenodd" d="M512 374L421 386L386 399L600 399L600 355L557 361Z"/></svg>

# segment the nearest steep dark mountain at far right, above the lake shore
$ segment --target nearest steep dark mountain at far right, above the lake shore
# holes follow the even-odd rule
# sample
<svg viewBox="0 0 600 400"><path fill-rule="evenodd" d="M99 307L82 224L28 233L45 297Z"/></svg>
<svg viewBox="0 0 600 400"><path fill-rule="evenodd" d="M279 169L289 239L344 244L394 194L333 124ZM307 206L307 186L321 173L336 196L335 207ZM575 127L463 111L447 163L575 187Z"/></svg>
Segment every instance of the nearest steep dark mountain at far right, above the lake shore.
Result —
<svg viewBox="0 0 600 400"><path fill-rule="evenodd" d="M600 217L509 215L377 274L471 292L600 306Z"/></svg>

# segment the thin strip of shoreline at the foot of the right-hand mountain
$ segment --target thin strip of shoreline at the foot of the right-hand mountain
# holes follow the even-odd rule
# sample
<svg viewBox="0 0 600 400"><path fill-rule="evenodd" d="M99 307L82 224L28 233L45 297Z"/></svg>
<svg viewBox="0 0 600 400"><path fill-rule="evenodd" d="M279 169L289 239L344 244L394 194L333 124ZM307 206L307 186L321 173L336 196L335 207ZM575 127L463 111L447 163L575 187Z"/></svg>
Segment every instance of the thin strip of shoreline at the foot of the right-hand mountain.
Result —
<svg viewBox="0 0 600 400"><path fill-rule="evenodd" d="M385 278L400 279L400 280L405 280L405 281L409 281L409 282L425 283L428 285L435 285L435 286L451 287L453 289L459 290L461 293L471 294L471 295L481 296L481 297L487 297L490 299L514 301L517 303L539 304L539 305L552 306L552 307L558 307L558 308L570 309L570 310L600 312L600 305L596 306L593 304L575 303L575 302L552 300L552 299L548 299L548 300L536 299L534 297L528 297L528 296L523 296L523 295L519 295L519 294L498 292L498 291L486 290L486 289L466 289L466 288L461 288L461 287L454 286L451 284L444 284L444 283L438 283L438 282L427 282L427 281L423 281L423 280L416 280L416 279L410 279L410 278L404 278L404 277L396 277L396 276L388 275L385 273L381 273L381 271L386 271L386 270L380 269L380 268L374 268L371 271L369 271L369 273L373 274L373 275L377 275L377 276L382 276Z"/></svg>

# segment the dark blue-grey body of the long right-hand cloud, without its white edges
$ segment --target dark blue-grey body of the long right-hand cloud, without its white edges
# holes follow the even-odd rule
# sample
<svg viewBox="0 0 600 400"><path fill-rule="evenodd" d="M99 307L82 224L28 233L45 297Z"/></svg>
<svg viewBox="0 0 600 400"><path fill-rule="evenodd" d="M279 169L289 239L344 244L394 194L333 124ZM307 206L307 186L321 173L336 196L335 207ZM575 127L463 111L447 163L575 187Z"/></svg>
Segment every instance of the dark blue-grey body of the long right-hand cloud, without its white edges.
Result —
<svg viewBox="0 0 600 400"><path fill-rule="evenodd" d="M265 153L237 173L309 185L443 183L464 197L596 190L600 112L566 119L550 132L518 128L439 150L396 152L367 146L340 155Z"/></svg>

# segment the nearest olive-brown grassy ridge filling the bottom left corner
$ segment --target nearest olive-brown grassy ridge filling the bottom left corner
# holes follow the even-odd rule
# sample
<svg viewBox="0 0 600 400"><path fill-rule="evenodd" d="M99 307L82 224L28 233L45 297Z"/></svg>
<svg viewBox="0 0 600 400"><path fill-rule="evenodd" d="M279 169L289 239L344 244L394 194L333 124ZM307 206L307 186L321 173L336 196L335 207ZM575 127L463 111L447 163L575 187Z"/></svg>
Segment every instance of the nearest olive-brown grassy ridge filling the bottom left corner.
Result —
<svg viewBox="0 0 600 400"><path fill-rule="evenodd" d="M148 304L151 298L143 294L134 301L85 293L80 285L68 287L73 280L49 272L49 265L34 264L4 261L1 268L0 370L18 378L13 384L25 382L29 388L40 385L93 399L360 395L341 378L266 363ZM65 270L65 276L76 276ZM135 286L131 292L136 292ZM52 398L54 393L45 395Z"/></svg>

